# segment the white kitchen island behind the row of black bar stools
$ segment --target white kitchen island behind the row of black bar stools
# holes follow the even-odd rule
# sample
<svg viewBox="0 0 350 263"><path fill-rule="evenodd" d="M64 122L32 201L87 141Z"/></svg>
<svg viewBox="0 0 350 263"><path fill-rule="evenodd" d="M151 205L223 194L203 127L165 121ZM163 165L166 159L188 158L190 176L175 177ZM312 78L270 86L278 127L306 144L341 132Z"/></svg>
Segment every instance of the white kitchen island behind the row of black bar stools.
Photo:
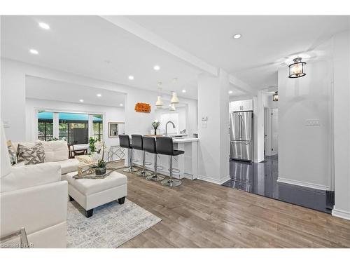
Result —
<svg viewBox="0 0 350 263"><path fill-rule="evenodd" d="M155 137L157 140L157 137ZM198 141L197 138L190 137L174 137L174 149L185 151L185 154L173 156L173 168L179 170L173 172L173 177L177 179L187 178L195 180L198 177ZM154 171L154 154L146 152L146 162L151 165L146 166L147 170ZM169 176L169 156L158 154L158 173ZM142 151L133 150L134 165L142 165ZM127 157L125 157L125 165L128 166Z"/></svg>

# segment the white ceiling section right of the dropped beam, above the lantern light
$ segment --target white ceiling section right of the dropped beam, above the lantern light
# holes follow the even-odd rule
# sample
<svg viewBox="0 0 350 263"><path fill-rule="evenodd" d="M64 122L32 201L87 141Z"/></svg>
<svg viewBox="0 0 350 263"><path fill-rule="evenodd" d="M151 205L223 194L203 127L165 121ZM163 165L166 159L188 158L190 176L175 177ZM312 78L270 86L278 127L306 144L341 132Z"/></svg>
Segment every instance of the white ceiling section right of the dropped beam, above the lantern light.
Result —
<svg viewBox="0 0 350 263"><path fill-rule="evenodd" d="M336 32L349 30L349 16L167 15L128 16L142 27L252 88L277 85L277 67L307 53ZM241 34L240 39L232 39Z"/></svg>

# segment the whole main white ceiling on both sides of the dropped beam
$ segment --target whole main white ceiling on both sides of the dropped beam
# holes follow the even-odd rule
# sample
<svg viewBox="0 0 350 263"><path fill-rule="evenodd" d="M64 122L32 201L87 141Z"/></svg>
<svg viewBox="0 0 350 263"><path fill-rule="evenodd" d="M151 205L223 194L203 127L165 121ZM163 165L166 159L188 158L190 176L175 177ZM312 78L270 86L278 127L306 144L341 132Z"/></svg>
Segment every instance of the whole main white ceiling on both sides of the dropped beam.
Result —
<svg viewBox="0 0 350 263"><path fill-rule="evenodd" d="M349 16L127 16L255 89L277 86L277 68L349 29ZM46 22L50 30L38 27ZM232 35L240 33L241 39ZM38 50L38 55L29 53ZM96 79L197 98L199 69L99 16L2 16L1 56ZM311 58L316 59L316 58ZM155 72L154 65L160 65ZM285 65L286 66L286 65ZM134 81L128 79L134 76ZM177 83L172 79L178 78ZM181 93L186 89L186 93ZM232 95L244 92L231 85ZM94 94L92 94L94 95Z"/></svg>

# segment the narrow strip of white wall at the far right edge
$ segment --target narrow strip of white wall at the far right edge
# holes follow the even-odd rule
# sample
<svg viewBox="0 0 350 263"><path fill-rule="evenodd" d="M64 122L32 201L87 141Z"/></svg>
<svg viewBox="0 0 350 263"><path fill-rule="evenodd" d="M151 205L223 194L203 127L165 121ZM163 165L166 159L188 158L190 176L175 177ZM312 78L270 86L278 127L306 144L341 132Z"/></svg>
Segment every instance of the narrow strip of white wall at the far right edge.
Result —
<svg viewBox="0 0 350 263"><path fill-rule="evenodd" d="M350 36L337 34L334 54L335 206L332 214L350 220Z"/></svg>

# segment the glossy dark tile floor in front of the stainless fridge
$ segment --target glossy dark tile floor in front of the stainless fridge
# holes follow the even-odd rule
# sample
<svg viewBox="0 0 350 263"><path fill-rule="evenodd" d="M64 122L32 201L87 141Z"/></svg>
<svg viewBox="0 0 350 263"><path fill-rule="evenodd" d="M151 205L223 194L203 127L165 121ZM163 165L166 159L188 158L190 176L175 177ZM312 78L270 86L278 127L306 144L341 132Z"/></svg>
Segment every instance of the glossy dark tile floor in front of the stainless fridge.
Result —
<svg viewBox="0 0 350 263"><path fill-rule="evenodd" d="M261 163L231 160L231 179L222 185L325 213L332 212L326 208L328 196L326 191L279 183L278 175L278 155L265 156L265 161Z"/></svg>

